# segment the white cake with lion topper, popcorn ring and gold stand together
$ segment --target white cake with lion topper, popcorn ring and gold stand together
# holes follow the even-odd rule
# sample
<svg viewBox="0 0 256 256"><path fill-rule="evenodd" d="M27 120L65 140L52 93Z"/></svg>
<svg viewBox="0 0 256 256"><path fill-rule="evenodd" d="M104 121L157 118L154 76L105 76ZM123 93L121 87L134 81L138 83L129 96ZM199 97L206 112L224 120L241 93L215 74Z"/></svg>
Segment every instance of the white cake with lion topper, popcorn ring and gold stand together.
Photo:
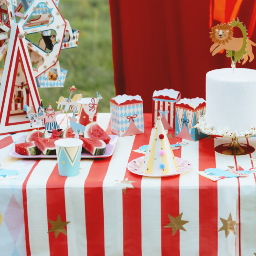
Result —
<svg viewBox="0 0 256 256"><path fill-rule="evenodd" d="M233 28L238 27L243 38L233 37ZM246 155L254 148L248 144L239 144L238 139L256 136L256 70L235 68L235 64L245 64L254 59L247 30L242 22L233 19L232 23L220 24L210 33L214 44L210 48L212 55L226 50L231 58L231 68L211 70L206 74L206 109L195 127L211 136L231 138L231 143L218 145L215 150L226 155ZM241 102L241 104L238 104Z"/></svg>

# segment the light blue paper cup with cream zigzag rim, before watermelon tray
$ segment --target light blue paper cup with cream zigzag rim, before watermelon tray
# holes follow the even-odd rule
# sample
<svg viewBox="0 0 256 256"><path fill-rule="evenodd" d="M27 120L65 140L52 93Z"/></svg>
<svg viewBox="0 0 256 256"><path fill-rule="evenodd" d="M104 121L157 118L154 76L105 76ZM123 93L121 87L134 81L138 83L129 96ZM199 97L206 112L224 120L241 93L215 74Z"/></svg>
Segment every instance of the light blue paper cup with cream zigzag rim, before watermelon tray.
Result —
<svg viewBox="0 0 256 256"><path fill-rule="evenodd" d="M65 177L76 176L79 173L83 141L78 139L59 139L56 146L59 174Z"/></svg>

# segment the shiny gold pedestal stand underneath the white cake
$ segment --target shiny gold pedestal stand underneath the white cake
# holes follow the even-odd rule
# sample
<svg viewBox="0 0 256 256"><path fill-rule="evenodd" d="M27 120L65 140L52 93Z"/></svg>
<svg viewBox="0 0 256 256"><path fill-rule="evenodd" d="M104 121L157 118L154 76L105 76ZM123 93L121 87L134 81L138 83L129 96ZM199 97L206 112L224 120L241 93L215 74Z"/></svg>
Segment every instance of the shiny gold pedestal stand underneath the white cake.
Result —
<svg viewBox="0 0 256 256"><path fill-rule="evenodd" d="M221 144L221 145L218 145L215 147L215 151L220 154L231 155L231 156L242 156L242 155L250 154L255 150L254 147L252 147L248 144L238 143L238 139L251 138L251 137L255 137L256 135L241 136L241 137L221 136L221 135L215 135L212 133L206 133L205 131L202 131L199 128L197 128L197 129L200 132L210 135L210 136L213 136L213 137L232 139L231 143L224 143L224 144Z"/></svg>

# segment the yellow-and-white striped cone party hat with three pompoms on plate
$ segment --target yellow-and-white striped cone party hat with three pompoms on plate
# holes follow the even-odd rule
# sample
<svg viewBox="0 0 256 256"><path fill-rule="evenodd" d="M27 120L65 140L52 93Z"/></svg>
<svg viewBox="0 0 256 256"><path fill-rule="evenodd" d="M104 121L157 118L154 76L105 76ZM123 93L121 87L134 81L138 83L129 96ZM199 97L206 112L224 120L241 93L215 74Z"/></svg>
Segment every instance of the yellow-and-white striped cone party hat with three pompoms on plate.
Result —
<svg viewBox="0 0 256 256"><path fill-rule="evenodd" d="M149 145L141 164L141 171L146 174L172 174L178 170L170 143L160 117L151 134Z"/></svg>

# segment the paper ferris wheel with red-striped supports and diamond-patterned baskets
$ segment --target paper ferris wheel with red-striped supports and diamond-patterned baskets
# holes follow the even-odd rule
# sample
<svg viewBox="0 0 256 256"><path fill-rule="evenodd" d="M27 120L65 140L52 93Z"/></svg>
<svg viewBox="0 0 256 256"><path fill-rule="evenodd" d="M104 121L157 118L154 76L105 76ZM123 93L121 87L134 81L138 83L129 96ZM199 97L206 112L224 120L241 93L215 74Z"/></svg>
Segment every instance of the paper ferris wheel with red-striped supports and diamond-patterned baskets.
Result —
<svg viewBox="0 0 256 256"><path fill-rule="evenodd" d="M60 51L77 46L79 31L57 5L58 0L0 0L0 134L30 130L23 104L37 113L38 87L64 86Z"/></svg>

